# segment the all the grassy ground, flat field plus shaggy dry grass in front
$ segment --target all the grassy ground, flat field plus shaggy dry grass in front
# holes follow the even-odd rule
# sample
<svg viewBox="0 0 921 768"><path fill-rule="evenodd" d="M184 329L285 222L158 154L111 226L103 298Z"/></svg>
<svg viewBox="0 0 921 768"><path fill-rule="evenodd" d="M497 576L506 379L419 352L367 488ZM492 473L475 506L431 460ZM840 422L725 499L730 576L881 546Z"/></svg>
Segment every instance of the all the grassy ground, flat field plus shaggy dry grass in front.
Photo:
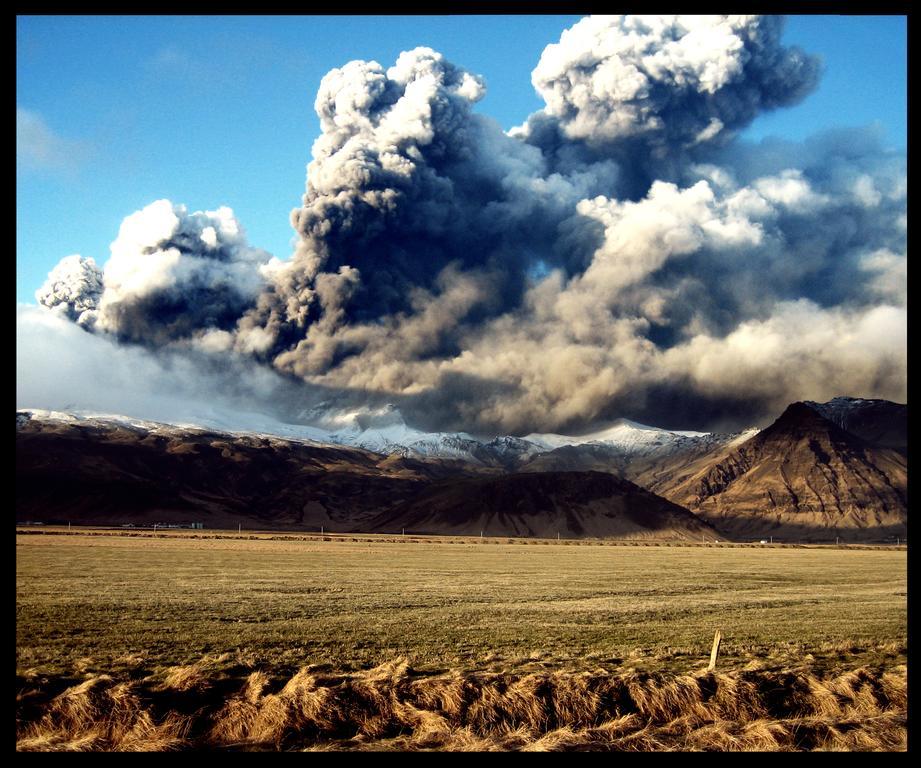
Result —
<svg viewBox="0 0 921 768"><path fill-rule="evenodd" d="M906 578L904 550L19 535L17 746L903 749Z"/></svg>

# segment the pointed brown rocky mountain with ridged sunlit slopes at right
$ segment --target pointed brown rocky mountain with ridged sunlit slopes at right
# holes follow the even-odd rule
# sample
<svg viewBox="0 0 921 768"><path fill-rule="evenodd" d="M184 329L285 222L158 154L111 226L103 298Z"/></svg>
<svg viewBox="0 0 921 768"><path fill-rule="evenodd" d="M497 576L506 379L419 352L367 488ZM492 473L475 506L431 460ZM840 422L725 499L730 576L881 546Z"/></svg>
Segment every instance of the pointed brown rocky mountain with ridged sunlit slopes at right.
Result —
<svg viewBox="0 0 921 768"><path fill-rule="evenodd" d="M666 498L732 537L905 536L907 459L794 403L767 429L674 484Z"/></svg>

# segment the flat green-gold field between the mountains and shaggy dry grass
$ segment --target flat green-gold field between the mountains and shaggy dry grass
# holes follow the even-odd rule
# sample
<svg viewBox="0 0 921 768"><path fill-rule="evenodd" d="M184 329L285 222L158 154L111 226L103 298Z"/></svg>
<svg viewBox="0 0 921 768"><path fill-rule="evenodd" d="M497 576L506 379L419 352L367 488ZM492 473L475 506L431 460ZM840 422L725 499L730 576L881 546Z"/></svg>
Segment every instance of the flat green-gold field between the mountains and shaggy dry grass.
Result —
<svg viewBox="0 0 921 768"><path fill-rule="evenodd" d="M267 675L259 685L263 693L276 697L272 706L278 707L278 696L291 685L297 688L305 670L353 682L355 676L370 675L372 682L390 680L387 696L399 703L402 694L394 691L403 689L392 682L396 659L403 660L400 675L406 680L409 669L412 676L430 679L492 674L513 675L516 680L551 675L558 681L572 675L646 679L642 676L652 674L660 676L657 685L666 689L677 685L675 680L691 680L693 685L688 685L705 701L709 694L705 695L701 675L716 629L723 634L718 671L729 676L723 678L728 681L724 687L738 687L745 675L800 670L819 681L807 685L810 691L818 690L816 686L831 690L844 685L840 675L855 674L852 670L860 667L860 674L875 681L873 690L888 691L873 699L873 716L886 718L893 715L883 704L894 696L894 678L887 670L901 669L896 678L904 677L904 549L328 538L18 535L20 731L28 731L43 713L51 717L52 697L68 686L72 693L73 686L95 685L87 696L111 698L110 683L105 682L110 678L111 685L124 681L148 692L157 686L191 690L201 680L211 680L205 687L213 692L214 681L223 681L221 690L229 691L256 685L259 679L253 682L254 675ZM382 664L389 671L375 672ZM889 688L880 682L886 674ZM185 688L177 683L186 679L183 676L192 680ZM833 680L839 682L828 682ZM318 685L314 680L308 688L316 692ZM338 688L329 685L344 690L338 683ZM505 685L500 692L509 690ZM850 682L845 686L850 691L848 686ZM482 686L477 690L477 695L486 695ZM240 700L258 699L250 694L240 693ZM300 694L291 695L297 699ZM391 701L379 692L375 695ZM842 695L832 697L839 709ZM55 701L55 706L62 706L60 698ZM631 701L636 709L635 696ZM768 711L770 707L762 707L762 712L758 706L753 704L751 711L761 712L755 717L759 722L777 715ZM820 707L818 713L828 714L828 707L822 706L825 709ZM399 707L394 711L404 712ZM838 712L836 722L840 725L842 717L856 716L857 711L841 710L844 714ZM870 710L860 711L866 715ZM487 728L489 743L519 748L514 738L508 741L509 734L525 726L512 721L518 725L507 724L501 738ZM209 726L212 731L216 722ZM563 738L560 729L572 723L556 718L552 724L562 739L557 747L565 746L569 737ZM455 736L461 725L457 720L452 726ZM404 723L403 730L390 735L396 737L407 727ZM483 743L471 746L487 737L485 731L463 727L474 740L463 743L486 748ZM646 722L643 728L648 727ZM789 733L801 732L790 728ZM174 736L182 743L188 734L179 731ZM369 733L382 738L389 732L372 728ZM529 733L522 743L533 744L546 735ZM345 737L349 729L336 726L330 734ZM228 737L229 742L246 741L237 736ZM651 732L647 736L655 742ZM724 746L717 748L759 748L746 746L748 742L736 736L740 740L721 742ZM44 737L33 733L31 738L20 746L43 748ZM579 741L582 736L573 738L573 743L588 743ZM609 748L613 743L608 736L591 738ZM901 737L886 738L868 742L876 746L865 748L898 748L901 743ZM790 739L770 748L796 743ZM221 743L225 742L229 743ZM256 742L284 746L283 739L250 739ZM73 740L67 743L76 748ZM655 743L661 747L673 742ZM860 748L846 739L828 743Z"/></svg>

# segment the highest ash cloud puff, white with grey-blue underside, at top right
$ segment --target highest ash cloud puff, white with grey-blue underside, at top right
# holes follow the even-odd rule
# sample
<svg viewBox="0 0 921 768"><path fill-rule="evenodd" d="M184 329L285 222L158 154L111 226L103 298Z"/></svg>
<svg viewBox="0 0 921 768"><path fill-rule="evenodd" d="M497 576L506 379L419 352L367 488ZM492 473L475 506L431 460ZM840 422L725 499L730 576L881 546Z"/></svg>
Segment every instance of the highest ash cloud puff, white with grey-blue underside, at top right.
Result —
<svg viewBox="0 0 921 768"><path fill-rule="evenodd" d="M614 157L620 194L642 195L815 87L817 59L780 45L782 27L771 16L583 19L544 50L531 80L547 106L518 135L562 168Z"/></svg>

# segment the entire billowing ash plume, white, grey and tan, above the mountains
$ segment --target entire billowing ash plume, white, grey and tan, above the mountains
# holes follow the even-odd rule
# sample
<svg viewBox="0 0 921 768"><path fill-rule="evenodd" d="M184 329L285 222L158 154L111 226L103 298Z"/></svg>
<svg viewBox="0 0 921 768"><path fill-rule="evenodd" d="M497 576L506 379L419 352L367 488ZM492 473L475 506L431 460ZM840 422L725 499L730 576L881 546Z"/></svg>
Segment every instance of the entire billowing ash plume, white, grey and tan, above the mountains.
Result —
<svg viewBox="0 0 921 768"><path fill-rule="evenodd" d="M730 429L800 399L904 401L904 154L871 130L734 138L816 83L781 26L585 19L510 134L431 49L351 62L320 86L290 259L227 209L159 201L126 219L101 286L69 257L41 301L432 429Z"/></svg>

